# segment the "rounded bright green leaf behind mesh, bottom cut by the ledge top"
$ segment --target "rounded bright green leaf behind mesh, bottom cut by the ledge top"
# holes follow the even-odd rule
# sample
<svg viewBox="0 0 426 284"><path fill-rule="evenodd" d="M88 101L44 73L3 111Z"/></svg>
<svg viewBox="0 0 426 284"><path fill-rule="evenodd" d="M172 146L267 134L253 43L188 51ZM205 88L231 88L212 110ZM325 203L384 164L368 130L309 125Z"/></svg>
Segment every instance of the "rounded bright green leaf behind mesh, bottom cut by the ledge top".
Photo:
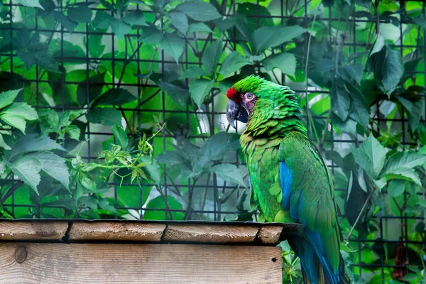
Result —
<svg viewBox="0 0 426 284"><path fill-rule="evenodd" d="M175 197L168 195L167 196L167 205L168 209L182 210L182 204L175 199ZM153 198L146 204L146 210L143 214L144 220L164 220L165 219L165 202L163 197L158 196ZM156 210L155 210L156 209ZM183 212L169 212L168 219L173 220L183 220L185 214Z"/></svg>

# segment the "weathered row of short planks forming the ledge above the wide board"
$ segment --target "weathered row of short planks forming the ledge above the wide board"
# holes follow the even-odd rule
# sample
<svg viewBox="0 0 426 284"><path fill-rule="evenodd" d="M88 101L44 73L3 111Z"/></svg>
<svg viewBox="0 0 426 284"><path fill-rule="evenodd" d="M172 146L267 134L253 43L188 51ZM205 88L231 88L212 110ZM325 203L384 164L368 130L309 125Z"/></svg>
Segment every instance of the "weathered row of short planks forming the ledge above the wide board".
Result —
<svg viewBox="0 0 426 284"><path fill-rule="evenodd" d="M4 220L0 241L149 242L275 246L298 234L300 224L254 222L155 222L125 220Z"/></svg>

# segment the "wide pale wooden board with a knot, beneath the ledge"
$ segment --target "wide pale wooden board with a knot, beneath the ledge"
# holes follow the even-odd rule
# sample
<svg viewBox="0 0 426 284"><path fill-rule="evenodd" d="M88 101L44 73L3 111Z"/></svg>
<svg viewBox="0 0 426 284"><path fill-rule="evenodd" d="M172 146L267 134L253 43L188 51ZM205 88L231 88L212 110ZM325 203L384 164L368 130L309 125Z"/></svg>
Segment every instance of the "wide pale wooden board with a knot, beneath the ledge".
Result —
<svg viewBox="0 0 426 284"><path fill-rule="evenodd" d="M282 283L274 246L0 244L1 283Z"/></svg>

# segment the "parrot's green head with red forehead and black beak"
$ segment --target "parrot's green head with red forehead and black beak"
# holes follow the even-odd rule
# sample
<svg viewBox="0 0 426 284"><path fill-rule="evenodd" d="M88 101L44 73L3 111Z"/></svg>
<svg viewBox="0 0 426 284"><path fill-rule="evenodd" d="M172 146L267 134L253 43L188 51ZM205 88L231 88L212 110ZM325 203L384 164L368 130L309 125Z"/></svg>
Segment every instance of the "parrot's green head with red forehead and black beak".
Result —
<svg viewBox="0 0 426 284"><path fill-rule="evenodd" d="M255 75L236 82L226 91L226 119L235 128L235 120L265 121L300 113L295 93L286 86L275 84Z"/></svg>

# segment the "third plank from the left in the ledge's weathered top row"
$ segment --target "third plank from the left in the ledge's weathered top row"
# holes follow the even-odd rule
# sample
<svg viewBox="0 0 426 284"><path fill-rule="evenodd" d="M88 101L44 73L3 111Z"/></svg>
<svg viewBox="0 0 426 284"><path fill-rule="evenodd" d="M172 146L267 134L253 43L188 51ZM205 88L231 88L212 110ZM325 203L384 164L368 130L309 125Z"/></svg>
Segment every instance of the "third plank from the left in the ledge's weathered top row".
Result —
<svg viewBox="0 0 426 284"><path fill-rule="evenodd" d="M256 226L229 226L207 224L170 224L163 241L200 243L251 243L256 238Z"/></svg>

